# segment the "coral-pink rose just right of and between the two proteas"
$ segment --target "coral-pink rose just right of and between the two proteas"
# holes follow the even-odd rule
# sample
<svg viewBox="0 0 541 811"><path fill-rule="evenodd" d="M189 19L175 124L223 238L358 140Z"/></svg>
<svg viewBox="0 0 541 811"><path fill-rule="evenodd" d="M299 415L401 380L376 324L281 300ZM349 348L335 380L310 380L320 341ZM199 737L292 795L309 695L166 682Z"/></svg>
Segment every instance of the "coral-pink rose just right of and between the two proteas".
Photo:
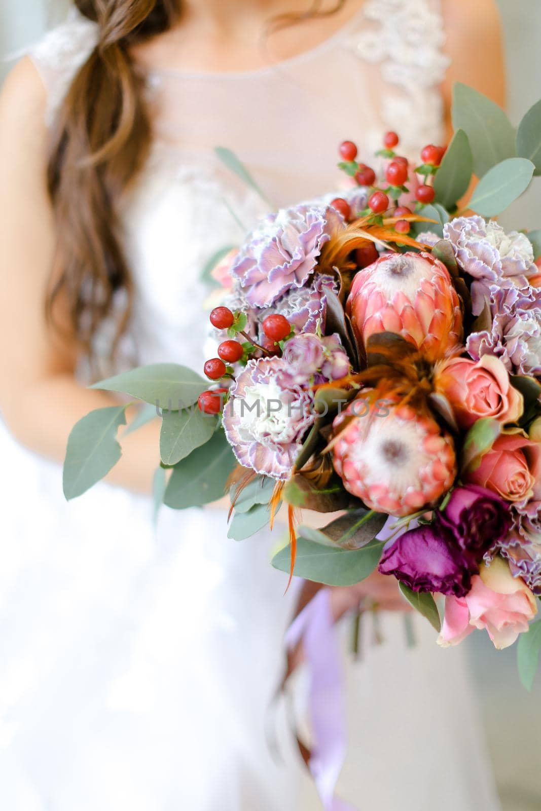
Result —
<svg viewBox="0 0 541 811"><path fill-rule="evenodd" d="M522 394L510 384L504 364L489 354L477 363L470 358L448 361L436 377L436 388L449 400L461 428L481 417L516 423L524 409Z"/></svg>

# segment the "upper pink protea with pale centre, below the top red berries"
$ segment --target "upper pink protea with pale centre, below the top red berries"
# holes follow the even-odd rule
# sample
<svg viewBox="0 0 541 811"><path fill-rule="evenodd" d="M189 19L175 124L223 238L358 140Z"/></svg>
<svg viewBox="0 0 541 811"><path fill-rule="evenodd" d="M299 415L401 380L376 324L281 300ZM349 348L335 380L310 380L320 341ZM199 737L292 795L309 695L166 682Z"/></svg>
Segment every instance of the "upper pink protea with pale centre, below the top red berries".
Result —
<svg viewBox="0 0 541 811"><path fill-rule="evenodd" d="M382 256L364 268L346 309L362 345L376 333L397 333L436 359L462 341L462 310L449 271L427 253Z"/></svg>

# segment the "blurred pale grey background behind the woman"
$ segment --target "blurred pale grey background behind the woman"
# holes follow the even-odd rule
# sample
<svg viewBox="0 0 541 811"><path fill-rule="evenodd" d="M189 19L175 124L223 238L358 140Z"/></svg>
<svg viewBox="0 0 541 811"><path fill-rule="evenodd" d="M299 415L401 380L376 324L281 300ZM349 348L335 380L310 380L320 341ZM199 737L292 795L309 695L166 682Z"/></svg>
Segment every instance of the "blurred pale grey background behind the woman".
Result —
<svg viewBox="0 0 541 811"><path fill-rule="evenodd" d="M498 5L505 38L508 112L517 123L541 96L541 2L498 0ZM67 6L65 0L1 0L0 82L19 52L62 19ZM501 220L507 228L538 229L541 180ZM496 651L484 633L472 634L465 644L503 809L539 811L541 677L533 692L526 693L517 676L515 648Z"/></svg>

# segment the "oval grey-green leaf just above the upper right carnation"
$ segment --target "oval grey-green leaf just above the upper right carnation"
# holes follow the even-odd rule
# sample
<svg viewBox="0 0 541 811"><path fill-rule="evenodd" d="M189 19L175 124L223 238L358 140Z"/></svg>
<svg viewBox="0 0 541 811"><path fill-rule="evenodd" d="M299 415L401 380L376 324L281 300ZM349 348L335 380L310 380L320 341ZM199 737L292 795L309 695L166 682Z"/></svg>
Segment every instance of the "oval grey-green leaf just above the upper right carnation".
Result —
<svg viewBox="0 0 541 811"><path fill-rule="evenodd" d="M481 178L469 207L483 217L496 217L530 186L534 169L533 163L524 157L501 161Z"/></svg>

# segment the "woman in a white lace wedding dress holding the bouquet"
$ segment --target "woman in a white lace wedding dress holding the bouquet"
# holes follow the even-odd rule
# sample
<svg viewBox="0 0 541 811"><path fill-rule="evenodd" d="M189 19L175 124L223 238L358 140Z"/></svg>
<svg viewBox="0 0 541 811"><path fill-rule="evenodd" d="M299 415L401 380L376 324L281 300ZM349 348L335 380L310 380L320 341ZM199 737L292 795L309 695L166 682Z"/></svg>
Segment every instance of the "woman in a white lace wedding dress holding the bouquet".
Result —
<svg viewBox="0 0 541 811"><path fill-rule="evenodd" d="M277 206L336 187L343 139L367 163L386 130L412 156L442 143L453 81L501 100L494 3L75 5L0 98L2 807L316 809L281 716L281 762L265 738L292 609L265 536L226 539L219 508L154 529L153 422L83 499L63 501L58 463L111 402L91 376L202 369L201 268L266 208L213 148ZM396 607L379 576L363 589ZM341 795L496 809L462 652L381 625L387 645L349 668Z"/></svg>

